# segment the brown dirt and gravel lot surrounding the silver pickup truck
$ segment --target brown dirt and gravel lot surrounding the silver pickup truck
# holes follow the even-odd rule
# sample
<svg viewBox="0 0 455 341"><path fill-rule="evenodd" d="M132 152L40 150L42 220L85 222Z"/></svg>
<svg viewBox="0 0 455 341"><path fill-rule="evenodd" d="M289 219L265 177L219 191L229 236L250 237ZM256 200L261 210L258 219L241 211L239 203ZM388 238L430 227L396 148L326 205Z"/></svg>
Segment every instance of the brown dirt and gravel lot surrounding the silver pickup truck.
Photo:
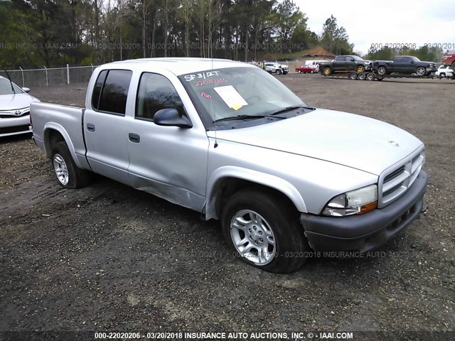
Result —
<svg viewBox="0 0 455 341"><path fill-rule="evenodd" d="M279 80L424 141L421 219L378 256L269 274L234 259L218 222L101 176L61 188L31 136L0 139L0 330L454 332L455 81ZM85 85L31 94L83 105Z"/></svg>

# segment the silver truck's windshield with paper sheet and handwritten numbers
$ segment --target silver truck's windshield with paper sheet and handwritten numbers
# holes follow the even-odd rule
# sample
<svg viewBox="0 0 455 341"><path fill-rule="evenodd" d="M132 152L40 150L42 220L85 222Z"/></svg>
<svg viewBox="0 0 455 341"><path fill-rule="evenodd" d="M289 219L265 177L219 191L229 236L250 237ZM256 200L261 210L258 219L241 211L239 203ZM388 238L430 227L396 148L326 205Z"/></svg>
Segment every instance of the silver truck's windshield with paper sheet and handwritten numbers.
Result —
<svg viewBox="0 0 455 341"><path fill-rule="evenodd" d="M306 106L282 82L259 67L205 70L178 78L209 129L215 120L259 117L288 107Z"/></svg>

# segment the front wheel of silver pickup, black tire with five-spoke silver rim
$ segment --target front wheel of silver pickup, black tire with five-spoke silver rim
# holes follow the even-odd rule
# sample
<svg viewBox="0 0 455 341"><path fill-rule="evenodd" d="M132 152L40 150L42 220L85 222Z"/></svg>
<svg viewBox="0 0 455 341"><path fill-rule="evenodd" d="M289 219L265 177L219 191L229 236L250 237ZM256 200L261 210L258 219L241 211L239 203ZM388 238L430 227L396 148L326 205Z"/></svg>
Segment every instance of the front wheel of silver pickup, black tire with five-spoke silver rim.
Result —
<svg viewBox="0 0 455 341"><path fill-rule="evenodd" d="M278 196L240 190L223 208L221 222L226 242L247 264L287 274L306 261L309 245L297 212Z"/></svg>

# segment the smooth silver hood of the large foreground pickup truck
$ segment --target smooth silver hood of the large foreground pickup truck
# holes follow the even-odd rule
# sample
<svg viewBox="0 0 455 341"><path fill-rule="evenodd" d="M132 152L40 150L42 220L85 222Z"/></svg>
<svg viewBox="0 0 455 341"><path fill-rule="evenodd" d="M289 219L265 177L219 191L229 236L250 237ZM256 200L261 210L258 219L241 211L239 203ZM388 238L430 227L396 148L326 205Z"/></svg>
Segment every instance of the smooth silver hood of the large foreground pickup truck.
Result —
<svg viewBox="0 0 455 341"><path fill-rule="evenodd" d="M215 137L214 131L208 131ZM298 117L217 131L220 140L294 153L380 175L422 146L396 126L346 112L316 109Z"/></svg>

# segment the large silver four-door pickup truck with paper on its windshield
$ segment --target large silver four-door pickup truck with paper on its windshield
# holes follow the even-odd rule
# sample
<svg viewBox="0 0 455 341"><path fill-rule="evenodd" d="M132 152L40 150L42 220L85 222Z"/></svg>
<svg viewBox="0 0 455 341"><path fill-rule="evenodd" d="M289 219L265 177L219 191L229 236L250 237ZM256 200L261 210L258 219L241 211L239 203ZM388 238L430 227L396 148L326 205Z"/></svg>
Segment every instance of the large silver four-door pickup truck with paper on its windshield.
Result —
<svg viewBox="0 0 455 341"><path fill-rule="evenodd" d="M31 117L60 185L99 173L219 219L237 257L267 271L377 249L419 217L427 188L419 139L309 107L247 63L109 63L85 109L33 103Z"/></svg>

